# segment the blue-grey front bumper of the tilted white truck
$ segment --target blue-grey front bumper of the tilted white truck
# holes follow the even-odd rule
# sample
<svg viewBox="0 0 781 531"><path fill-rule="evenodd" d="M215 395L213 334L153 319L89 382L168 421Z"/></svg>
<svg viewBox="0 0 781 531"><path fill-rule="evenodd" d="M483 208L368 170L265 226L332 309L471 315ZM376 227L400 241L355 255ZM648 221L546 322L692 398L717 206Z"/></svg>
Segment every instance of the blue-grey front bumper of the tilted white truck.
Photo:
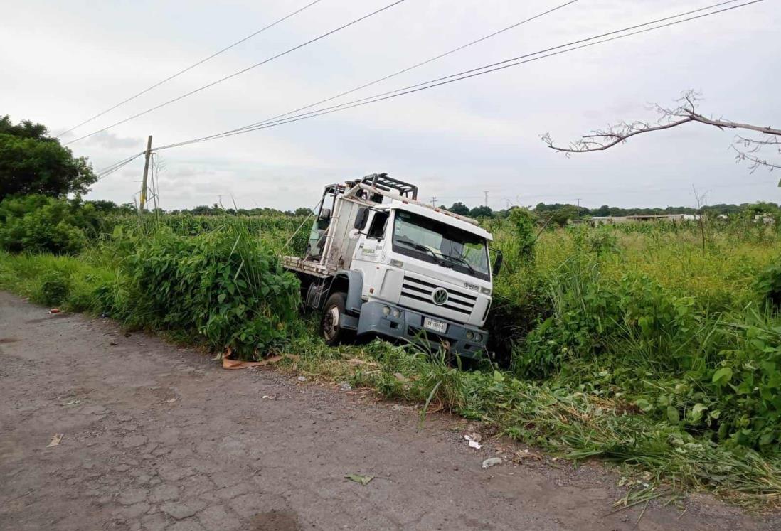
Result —
<svg viewBox="0 0 781 531"><path fill-rule="evenodd" d="M384 307L391 308L389 315L384 315ZM398 317L394 317L394 310L398 310L400 314ZM448 327L444 333L425 329L423 328L424 317L448 323ZM361 333L378 333L386 337L405 339L411 343L428 344L435 350L444 346L447 351L465 358L478 358L483 355L488 340L488 333L476 326L454 323L448 319L425 315L383 301L363 303L358 319L358 334ZM468 333L480 334L480 339L476 337L467 339Z"/></svg>

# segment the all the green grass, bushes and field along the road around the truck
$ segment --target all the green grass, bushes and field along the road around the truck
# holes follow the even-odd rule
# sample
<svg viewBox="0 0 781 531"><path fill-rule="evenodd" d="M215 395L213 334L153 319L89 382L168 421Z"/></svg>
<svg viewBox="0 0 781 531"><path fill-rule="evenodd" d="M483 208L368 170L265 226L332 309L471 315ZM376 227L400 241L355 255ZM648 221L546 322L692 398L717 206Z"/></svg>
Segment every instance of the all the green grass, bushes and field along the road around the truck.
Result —
<svg viewBox="0 0 781 531"><path fill-rule="evenodd" d="M303 216L125 212L5 198L0 289L216 354L294 355L280 365L618 463L632 501L696 488L781 505L778 219L758 223L751 208L677 224L553 228L522 208L485 219L505 255L490 323L500 359L465 370L441 352L317 339L279 260L303 250Z"/></svg>

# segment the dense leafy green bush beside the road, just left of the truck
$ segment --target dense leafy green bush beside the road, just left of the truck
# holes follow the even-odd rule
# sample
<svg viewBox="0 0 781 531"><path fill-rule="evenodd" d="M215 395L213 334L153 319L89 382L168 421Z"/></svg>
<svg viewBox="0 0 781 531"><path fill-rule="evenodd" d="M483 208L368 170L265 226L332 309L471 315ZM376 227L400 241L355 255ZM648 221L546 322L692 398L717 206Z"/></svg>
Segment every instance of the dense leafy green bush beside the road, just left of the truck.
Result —
<svg viewBox="0 0 781 531"><path fill-rule="evenodd" d="M258 358L298 321L298 279L242 226L196 237L160 230L127 272L130 294L116 306L129 323L191 330L240 358Z"/></svg>

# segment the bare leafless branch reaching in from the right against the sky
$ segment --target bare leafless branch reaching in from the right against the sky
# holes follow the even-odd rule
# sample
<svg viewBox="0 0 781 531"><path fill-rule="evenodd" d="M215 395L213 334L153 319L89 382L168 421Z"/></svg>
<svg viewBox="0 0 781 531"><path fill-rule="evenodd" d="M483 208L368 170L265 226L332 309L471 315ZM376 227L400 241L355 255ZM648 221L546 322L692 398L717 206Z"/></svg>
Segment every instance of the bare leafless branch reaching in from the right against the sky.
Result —
<svg viewBox="0 0 781 531"><path fill-rule="evenodd" d="M665 108L658 104L653 106L658 113L658 119L655 123L642 121L621 122L608 127L608 129L594 130L592 134L584 135L580 140L572 142L566 148L555 145L550 134L544 134L542 140L547 144L548 148L569 155L570 153L604 151L615 145L623 144L630 137L638 134L672 129L685 123L701 123L707 126L719 127L721 130L749 130L765 135L764 137L742 137L737 135L732 145L733 151L736 152L735 160L736 162L749 162L751 172L761 167L770 170L781 169L781 160L770 161L762 158L760 155L764 148L771 148L773 151L777 151L778 155L781 155L781 129L754 126L751 123L739 123L721 118L708 118L697 112L697 102L699 100L700 95L697 92L686 91L681 98L676 100L678 106L674 109ZM779 187L781 187L781 180L779 180Z"/></svg>

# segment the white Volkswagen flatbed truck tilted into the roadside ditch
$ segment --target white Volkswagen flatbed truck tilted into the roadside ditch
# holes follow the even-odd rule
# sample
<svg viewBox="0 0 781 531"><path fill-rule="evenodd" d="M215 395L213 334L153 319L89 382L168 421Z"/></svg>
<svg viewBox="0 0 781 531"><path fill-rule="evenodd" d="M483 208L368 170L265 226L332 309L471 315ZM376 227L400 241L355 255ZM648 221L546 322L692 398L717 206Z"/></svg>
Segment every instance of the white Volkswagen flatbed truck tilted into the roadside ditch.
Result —
<svg viewBox="0 0 781 531"><path fill-rule="evenodd" d="M305 305L323 312L327 344L377 334L468 358L486 350L501 253L491 265L490 233L417 192L385 173L330 184L305 255L283 258Z"/></svg>

